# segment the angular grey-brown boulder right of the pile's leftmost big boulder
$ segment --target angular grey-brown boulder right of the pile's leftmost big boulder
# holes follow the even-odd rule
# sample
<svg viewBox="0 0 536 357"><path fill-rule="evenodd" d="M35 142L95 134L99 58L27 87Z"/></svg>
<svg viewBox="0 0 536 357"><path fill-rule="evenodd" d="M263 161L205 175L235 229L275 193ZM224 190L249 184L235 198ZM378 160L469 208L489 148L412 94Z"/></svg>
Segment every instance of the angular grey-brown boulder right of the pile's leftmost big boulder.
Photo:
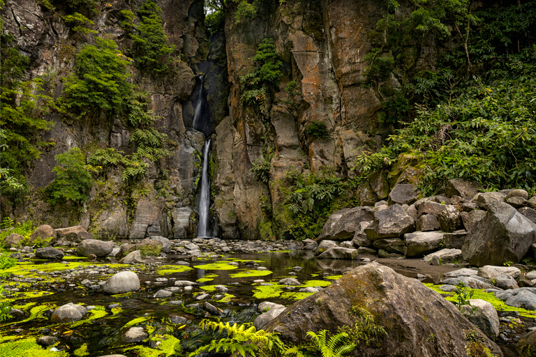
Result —
<svg viewBox="0 0 536 357"><path fill-rule="evenodd" d="M364 229L368 238L396 238L415 229L415 220L399 204L374 212L374 222Z"/></svg>

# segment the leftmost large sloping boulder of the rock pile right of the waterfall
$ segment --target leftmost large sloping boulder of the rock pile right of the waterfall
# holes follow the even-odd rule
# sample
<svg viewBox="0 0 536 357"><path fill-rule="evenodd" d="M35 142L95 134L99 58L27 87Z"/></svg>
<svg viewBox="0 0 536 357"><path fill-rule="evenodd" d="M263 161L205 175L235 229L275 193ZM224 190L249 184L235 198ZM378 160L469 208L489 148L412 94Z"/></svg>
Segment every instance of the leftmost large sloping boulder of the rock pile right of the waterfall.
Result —
<svg viewBox="0 0 536 357"><path fill-rule="evenodd" d="M318 236L317 241L352 239L355 231L359 229L360 222L371 222L374 219L373 212L371 207L362 206L344 208L332 213L322 228L322 233Z"/></svg>

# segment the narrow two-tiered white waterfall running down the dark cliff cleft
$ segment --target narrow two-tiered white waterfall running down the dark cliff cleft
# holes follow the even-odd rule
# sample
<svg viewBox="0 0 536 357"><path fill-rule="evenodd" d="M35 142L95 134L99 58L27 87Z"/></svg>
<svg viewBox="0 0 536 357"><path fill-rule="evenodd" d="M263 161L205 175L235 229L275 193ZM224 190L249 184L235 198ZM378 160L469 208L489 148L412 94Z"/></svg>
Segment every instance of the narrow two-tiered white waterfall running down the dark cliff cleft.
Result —
<svg viewBox="0 0 536 357"><path fill-rule="evenodd" d="M201 188L199 196L199 223L198 237L209 236L209 221L210 221L210 175L209 175L209 157L210 157L210 135L212 134L212 123L208 110L207 99L204 96L204 78L201 79L201 87L199 89L199 98L195 106L195 114L193 116L192 126L195 130L204 133L207 138L204 141L203 149L203 169L201 172Z"/></svg>

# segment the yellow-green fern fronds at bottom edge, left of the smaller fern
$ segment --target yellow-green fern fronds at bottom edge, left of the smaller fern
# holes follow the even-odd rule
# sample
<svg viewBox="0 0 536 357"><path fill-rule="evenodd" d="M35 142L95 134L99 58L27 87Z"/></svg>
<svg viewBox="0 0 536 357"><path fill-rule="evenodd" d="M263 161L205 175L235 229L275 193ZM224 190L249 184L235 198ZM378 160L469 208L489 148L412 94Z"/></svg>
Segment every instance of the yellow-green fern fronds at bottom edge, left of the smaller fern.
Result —
<svg viewBox="0 0 536 357"><path fill-rule="evenodd" d="M212 340L199 349L193 351L188 356L199 356L202 352L215 351L223 353L238 353L242 357L249 356L267 356L269 351L276 351L283 347L277 333L267 333L259 330L249 324L233 324L229 322L213 322L204 319L200 323L203 330L219 331L227 333L227 338Z"/></svg>

